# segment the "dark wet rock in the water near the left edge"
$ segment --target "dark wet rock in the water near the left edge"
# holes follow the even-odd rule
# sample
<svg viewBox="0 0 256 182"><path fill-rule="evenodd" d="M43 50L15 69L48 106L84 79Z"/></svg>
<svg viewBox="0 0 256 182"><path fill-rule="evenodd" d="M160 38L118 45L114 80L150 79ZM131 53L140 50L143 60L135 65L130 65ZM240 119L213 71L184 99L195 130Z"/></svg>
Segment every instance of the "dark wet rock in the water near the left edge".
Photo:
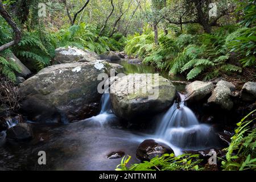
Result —
<svg viewBox="0 0 256 182"><path fill-rule="evenodd" d="M32 139L33 132L30 123L18 123L6 131L6 138L16 141Z"/></svg>

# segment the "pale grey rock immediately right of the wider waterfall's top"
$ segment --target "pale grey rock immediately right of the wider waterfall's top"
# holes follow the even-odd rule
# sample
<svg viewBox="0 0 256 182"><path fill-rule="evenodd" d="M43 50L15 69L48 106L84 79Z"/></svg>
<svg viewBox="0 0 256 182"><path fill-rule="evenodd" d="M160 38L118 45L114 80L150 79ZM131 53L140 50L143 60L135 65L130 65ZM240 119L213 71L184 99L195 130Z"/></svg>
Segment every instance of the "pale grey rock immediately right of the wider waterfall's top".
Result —
<svg viewBox="0 0 256 182"><path fill-rule="evenodd" d="M214 89L214 84L212 82L194 81L186 86L188 102L196 102L203 100L208 96Z"/></svg>

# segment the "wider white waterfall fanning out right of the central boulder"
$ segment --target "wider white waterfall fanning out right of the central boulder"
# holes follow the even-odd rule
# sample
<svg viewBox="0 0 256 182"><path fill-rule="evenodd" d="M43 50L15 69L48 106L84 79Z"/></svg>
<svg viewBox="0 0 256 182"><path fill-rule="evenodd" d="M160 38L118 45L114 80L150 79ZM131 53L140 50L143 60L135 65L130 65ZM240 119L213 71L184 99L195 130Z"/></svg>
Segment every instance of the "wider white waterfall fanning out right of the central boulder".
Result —
<svg viewBox="0 0 256 182"><path fill-rule="evenodd" d="M167 111L156 129L156 137L176 147L200 150L217 145L216 137L208 125L200 124L191 109L185 106L185 96Z"/></svg>

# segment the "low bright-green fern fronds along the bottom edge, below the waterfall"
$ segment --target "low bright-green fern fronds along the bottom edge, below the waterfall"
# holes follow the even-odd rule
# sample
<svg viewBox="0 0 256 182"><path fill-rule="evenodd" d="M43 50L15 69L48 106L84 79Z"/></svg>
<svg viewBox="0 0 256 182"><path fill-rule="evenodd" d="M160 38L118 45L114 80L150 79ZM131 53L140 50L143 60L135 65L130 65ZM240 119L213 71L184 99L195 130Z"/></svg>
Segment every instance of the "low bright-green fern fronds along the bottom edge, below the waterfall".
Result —
<svg viewBox="0 0 256 182"><path fill-rule="evenodd" d="M175 156L174 154L164 154L161 157L151 159L149 162L133 164L127 167L131 156L125 156L121 164L117 166L116 171L199 171L199 155L183 154Z"/></svg>

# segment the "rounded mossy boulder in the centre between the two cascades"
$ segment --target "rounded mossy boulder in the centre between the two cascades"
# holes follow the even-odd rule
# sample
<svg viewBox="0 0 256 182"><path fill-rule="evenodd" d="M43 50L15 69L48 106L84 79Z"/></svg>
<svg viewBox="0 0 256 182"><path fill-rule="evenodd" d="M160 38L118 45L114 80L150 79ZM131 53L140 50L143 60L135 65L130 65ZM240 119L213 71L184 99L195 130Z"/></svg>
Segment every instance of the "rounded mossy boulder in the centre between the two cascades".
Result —
<svg viewBox="0 0 256 182"><path fill-rule="evenodd" d="M158 80L155 85L154 80ZM175 97L175 86L159 75L127 75L110 87L114 113L127 120L164 111L173 104Z"/></svg>

